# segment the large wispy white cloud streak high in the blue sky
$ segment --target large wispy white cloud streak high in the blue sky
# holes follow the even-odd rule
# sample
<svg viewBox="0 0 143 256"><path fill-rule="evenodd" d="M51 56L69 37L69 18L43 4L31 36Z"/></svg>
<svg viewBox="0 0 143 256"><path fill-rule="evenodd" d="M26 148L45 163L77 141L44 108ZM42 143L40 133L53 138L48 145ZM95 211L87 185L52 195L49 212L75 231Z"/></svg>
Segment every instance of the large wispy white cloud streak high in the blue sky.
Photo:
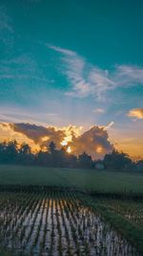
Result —
<svg viewBox="0 0 143 256"><path fill-rule="evenodd" d="M132 65L116 65L113 70L104 70L87 62L77 53L47 45L61 55L61 72L71 84L67 95L84 98L88 96L103 100L106 93L118 87L128 88L143 84L143 68Z"/></svg>

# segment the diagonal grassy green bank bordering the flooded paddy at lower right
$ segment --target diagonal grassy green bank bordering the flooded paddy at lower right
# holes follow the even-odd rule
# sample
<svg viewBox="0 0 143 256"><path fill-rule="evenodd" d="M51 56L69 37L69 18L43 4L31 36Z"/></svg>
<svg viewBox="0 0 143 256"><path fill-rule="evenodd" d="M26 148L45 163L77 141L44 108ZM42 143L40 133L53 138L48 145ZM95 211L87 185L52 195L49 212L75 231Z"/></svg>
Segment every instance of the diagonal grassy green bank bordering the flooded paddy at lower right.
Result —
<svg viewBox="0 0 143 256"><path fill-rule="evenodd" d="M110 200L107 198L104 198L101 200L93 199L93 198L85 198L86 202L92 209L98 211L98 213L101 214L101 216L104 218L104 220L108 221L112 224L112 226L122 234L124 238L127 238L131 244L134 244L134 246L140 251L143 252L143 228L139 225L135 225L133 221L130 221L130 218L126 218L125 216L122 216L117 211L115 212L112 209L116 208L116 200L114 200L114 204L112 203L112 207L110 206ZM127 202L127 201L126 201ZM124 207L126 208L126 202L123 201ZM127 202L127 208L128 208ZM133 216L134 214L134 208L133 208L133 200L130 201L131 207L130 207L130 215ZM143 206L143 202L142 206ZM140 202L139 202L140 204ZM117 210L117 209L116 209ZM134 222L140 221L142 222L142 215L136 214L133 216ZM127 253L128 255L128 253ZM132 253L130 255L133 255ZM142 254L140 254L142 255Z"/></svg>

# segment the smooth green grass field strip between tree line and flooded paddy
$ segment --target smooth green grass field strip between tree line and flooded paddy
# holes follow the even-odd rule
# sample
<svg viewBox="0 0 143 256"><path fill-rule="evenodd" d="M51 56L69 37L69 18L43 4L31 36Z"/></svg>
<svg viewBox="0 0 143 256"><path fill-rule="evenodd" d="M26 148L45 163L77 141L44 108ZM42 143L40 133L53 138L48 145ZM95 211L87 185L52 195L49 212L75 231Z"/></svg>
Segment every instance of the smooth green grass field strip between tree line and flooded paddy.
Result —
<svg viewBox="0 0 143 256"><path fill-rule="evenodd" d="M1 185L74 187L98 192L143 193L143 175L96 170L0 166Z"/></svg>

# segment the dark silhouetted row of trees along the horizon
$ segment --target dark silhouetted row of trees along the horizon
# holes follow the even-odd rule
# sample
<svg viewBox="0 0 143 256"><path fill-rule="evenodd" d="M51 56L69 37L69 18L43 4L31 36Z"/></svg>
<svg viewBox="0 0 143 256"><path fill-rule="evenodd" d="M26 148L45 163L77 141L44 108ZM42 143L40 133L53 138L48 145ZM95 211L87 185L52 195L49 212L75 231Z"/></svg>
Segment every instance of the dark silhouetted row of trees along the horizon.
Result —
<svg viewBox="0 0 143 256"><path fill-rule="evenodd" d="M107 169L111 171L136 171L138 166L143 171L143 160L134 163L124 152L113 150L103 160L92 160L84 151L78 156L68 153L65 148L56 149L51 141L46 151L33 153L29 144L18 145L17 142L0 143L0 164L35 165L44 167ZM139 170L140 171L140 170Z"/></svg>

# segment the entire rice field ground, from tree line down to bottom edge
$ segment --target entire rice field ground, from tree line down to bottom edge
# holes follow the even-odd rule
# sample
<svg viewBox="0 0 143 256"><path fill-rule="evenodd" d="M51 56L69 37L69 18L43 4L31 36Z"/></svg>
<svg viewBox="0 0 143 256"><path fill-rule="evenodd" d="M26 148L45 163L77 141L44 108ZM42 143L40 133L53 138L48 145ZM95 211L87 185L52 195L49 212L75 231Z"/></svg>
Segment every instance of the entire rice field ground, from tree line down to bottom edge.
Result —
<svg viewBox="0 0 143 256"><path fill-rule="evenodd" d="M0 166L0 256L141 256L142 193L141 174Z"/></svg>

